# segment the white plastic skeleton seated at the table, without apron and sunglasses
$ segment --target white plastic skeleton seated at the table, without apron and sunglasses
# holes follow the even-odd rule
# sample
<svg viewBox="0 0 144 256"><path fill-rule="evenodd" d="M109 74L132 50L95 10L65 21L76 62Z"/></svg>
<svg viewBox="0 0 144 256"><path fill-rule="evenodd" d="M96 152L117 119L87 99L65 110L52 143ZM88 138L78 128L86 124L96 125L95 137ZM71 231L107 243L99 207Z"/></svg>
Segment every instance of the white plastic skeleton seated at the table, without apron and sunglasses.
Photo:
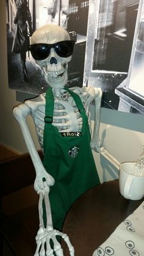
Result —
<svg viewBox="0 0 144 256"><path fill-rule="evenodd" d="M31 38L31 43L56 43L63 40L70 40L70 36L67 31L62 29L62 27L56 25L48 25L41 27L34 32ZM49 86L52 87L54 93L54 117L52 124L57 126L60 132L79 132L82 127L81 114L74 103L71 95L64 89L67 83L67 67L68 62L70 62L70 57L59 57L54 48L51 48L49 56L45 60L35 60L37 64L41 67L45 73L45 79ZM101 147L99 140L99 116L101 108L101 89L93 87L78 88L74 87L72 89L74 92L78 93L84 103L84 108L88 115L89 125L90 125L90 103L95 100L95 127L92 136L91 146L96 152L101 152L106 155L106 150ZM51 218L51 207L49 203L49 187L54 185L54 178L46 172L38 152L35 148L34 141L32 139L31 133L26 123L27 115L31 115L34 119L35 128L37 132L38 141L40 143L41 150L43 150L43 131L44 131L44 119L45 119L45 93L41 94L39 97L33 100L27 100L24 104L20 104L18 107L13 109L13 114L16 120L20 124L21 131L24 136L27 148L31 155L32 162L35 167L35 181L34 189L39 194L39 219L40 227L36 236L37 249L34 256L51 256L56 255L62 256L63 251L60 246L59 241L57 241L56 236L60 235L65 240L69 247L70 255L74 255L74 248L70 243L70 240L66 234L54 230L52 227ZM107 157L110 155L107 153ZM111 156L110 156L111 157ZM114 161L115 162L115 161ZM117 160L116 160L117 164ZM45 180L43 180L45 178ZM43 224L43 207L42 200L45 200L46 205L46 227ZM54 243L54 248L52 249L49 240Z"/></svg>

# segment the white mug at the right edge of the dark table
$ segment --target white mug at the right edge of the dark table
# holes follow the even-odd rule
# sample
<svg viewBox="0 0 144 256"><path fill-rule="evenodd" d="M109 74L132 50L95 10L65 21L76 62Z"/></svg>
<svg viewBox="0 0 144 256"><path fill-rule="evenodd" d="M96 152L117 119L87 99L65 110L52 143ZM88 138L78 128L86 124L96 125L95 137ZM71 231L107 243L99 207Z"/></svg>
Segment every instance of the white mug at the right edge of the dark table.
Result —
<svg viewBox="0 0 144 256"><path fill-rule="evenodd" d="M121 163L119 186L120 193L125 199L142 199L144 196L144 172L134 166L133 162Z"/></svg>

